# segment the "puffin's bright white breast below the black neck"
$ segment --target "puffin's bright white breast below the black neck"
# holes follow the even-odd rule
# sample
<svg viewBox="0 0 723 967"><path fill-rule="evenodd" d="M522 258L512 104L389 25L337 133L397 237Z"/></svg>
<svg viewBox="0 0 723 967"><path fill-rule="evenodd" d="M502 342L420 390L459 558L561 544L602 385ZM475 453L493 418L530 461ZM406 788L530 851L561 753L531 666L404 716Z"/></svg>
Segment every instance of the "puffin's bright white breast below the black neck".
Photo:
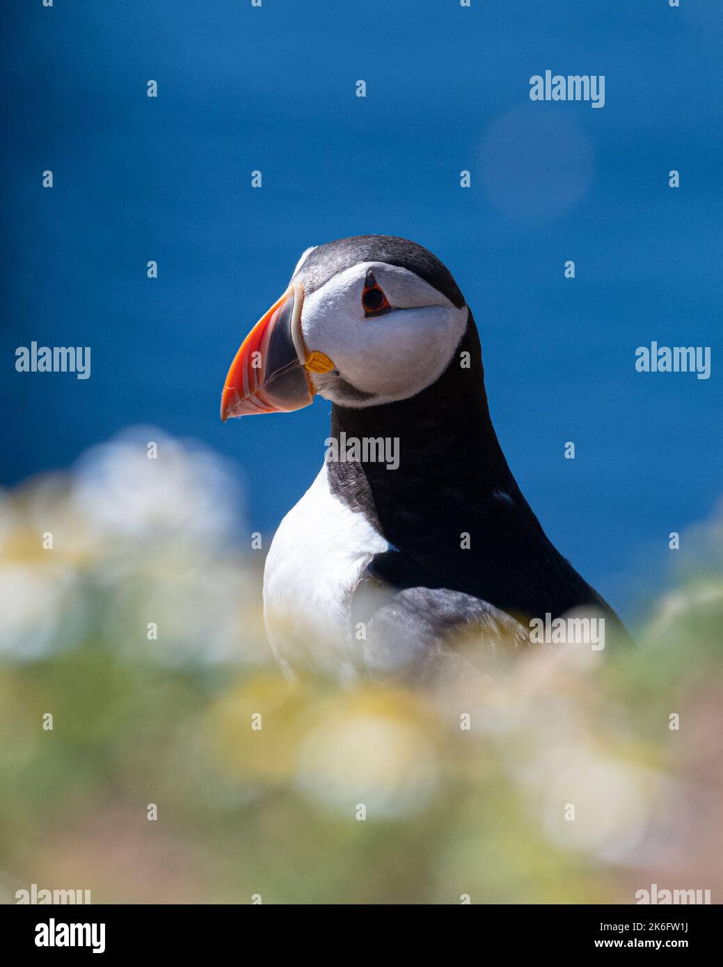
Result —
<svg viewBox="0 0 723 967"><path fill-rule="evenodd" d="M326 467L279 525L263 572L271 646L286 670L354 676L349 591L389 544L330 490Z"/></svg>

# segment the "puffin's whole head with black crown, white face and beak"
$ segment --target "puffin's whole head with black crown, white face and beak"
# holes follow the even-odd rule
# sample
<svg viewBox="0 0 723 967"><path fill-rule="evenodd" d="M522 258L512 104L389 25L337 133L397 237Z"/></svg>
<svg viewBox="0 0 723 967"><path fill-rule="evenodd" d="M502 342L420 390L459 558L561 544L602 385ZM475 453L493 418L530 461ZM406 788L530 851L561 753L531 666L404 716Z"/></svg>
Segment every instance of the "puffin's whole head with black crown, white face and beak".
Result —
<svg viewBox="0 0 723 967"><path fill-rule="evenodd" d="M432 252L388 235L307 249L236 353L221 419L415 396L448 366L467 305Z"/></svg>

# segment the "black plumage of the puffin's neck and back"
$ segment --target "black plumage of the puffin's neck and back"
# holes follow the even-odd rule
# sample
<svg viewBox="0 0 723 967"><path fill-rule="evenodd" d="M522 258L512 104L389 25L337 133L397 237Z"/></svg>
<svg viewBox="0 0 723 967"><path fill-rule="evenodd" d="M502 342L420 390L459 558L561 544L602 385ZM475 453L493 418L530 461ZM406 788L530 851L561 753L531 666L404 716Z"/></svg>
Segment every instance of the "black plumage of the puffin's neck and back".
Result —
<svg viewBox="0 0 723 967"><path fill-rule="evenodd" d="M470 366L460 366L468 353ZM617 616L548 540L497 441L471 312L449 366L417 396L334 405L331 435L399 437L400 465L327 463L331 489L395 549L369 571L398 589L463 592L524 621L593 604ZM469 547L462 547L463 535Z"/></svg>

